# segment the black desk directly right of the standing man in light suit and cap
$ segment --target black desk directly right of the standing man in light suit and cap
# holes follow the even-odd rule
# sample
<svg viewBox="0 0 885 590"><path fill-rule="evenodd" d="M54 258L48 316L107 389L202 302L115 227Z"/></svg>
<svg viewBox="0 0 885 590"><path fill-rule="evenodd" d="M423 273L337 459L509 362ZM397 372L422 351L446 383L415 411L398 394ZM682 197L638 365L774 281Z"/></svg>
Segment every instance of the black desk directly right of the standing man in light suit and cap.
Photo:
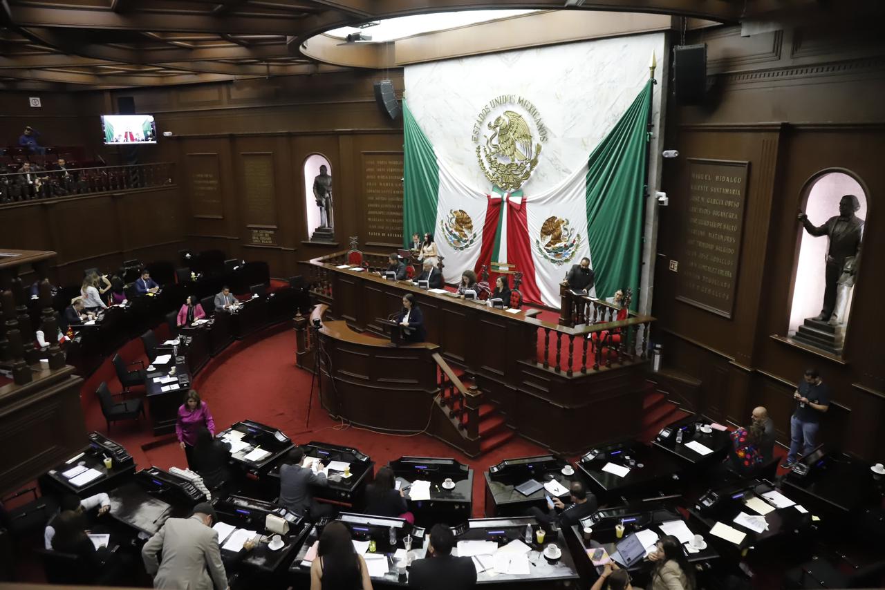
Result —
<svg viewBox="0 0 885 590"><path fill-rule="evenodd" d="M304 519L273 502L264 502L240 495L230 495L214 502L213 507L218 515L216 522L225 523L247 531L255 531L260 540L255 548L243 553L225 547L230 533L219 533L221 558L227 569L227 577L235 572L248 576L250 587L271 587L271 578L285 571L296 551L301 548L304 537L310 532L311 525ZM288 525L287 533L279 533L283 546L271 549L268 543L273 537L272 530L266 528L267 517L281 518ZM216 526L216 530L222 527ZM254 578L253 576L258 576Z"/></svg>

